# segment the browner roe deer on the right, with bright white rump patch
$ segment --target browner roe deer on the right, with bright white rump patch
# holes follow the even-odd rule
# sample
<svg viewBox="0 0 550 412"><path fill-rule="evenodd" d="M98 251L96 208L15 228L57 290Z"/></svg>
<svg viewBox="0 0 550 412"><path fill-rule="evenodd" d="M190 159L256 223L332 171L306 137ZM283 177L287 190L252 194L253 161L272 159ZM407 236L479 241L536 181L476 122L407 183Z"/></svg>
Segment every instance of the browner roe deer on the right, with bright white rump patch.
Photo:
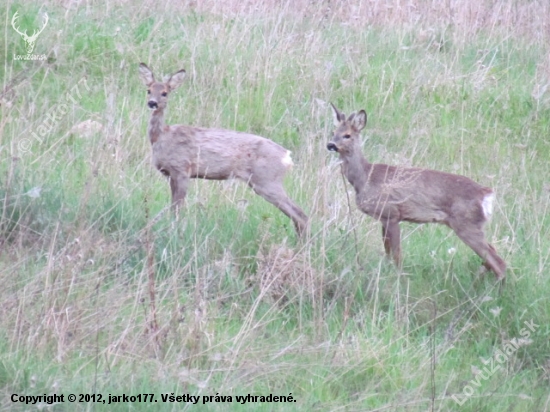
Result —
<svg viewBox="0 0 550 412"><path fill-rule="evenodd" d="M420 168L369 163L361 152L364 110L347 119L332 105L336 131L327 149L336 151L342 170L355 189L358 208L382 223L386 254L401 266L399 222L443 223L503 280L506 263L485 240L483 225L493 211L494 193L464 176Z"/></svg>

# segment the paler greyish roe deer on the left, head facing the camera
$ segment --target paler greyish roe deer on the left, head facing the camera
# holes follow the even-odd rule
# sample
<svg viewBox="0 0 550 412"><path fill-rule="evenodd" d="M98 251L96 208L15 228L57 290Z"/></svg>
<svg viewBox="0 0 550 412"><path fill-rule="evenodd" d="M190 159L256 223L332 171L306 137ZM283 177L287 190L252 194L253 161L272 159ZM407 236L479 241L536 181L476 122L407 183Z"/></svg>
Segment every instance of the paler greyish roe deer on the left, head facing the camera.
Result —
<svg viewBox="0 0 550 412"><path fill-rule="evenodd" d="M308 217L286 194L285 172L292 166L290 151L264 137L223 129L164 124L168 95L178 87L185 70L164 83L155 81L151 69L139 65L139 76L147 86L147 105L152 109L149 140L153 164L170 180L172 208L177 210L187 193L189 179L246 182L258 195L278 207L303 235Z"/></svg>

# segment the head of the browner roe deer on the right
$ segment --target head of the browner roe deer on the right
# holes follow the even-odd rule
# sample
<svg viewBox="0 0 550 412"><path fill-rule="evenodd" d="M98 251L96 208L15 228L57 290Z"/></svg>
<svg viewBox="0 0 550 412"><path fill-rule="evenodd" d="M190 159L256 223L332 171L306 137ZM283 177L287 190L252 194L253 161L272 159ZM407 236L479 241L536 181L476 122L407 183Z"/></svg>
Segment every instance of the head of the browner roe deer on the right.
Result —
<svg viewBox="0 0 550 412"><path fill-rule="evenodd" d="M327 149L340 153L340 155L350 154L355 150L361 151L361 138L359 133L367 124L367 114L364 110L359 110L349 115L340 113L331 103L332 113L334 115L334 136L327 144Z"/></svg>

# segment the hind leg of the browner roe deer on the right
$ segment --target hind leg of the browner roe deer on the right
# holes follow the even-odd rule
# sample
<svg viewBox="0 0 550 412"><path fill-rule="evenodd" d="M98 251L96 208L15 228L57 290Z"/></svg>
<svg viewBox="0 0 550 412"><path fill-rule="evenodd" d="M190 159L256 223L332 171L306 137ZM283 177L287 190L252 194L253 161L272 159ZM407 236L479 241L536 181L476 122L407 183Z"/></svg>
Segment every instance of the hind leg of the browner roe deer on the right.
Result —
<svg viewBox="0 0 550 412"><path fill-rule="evenodd" d="M506 276L506 263L497 254L495 248L485 240L483 230L479 227L461 226L451 225L451 228L464 243L483 259L483 266L495 274L497 281L503 280Z"/></svg>

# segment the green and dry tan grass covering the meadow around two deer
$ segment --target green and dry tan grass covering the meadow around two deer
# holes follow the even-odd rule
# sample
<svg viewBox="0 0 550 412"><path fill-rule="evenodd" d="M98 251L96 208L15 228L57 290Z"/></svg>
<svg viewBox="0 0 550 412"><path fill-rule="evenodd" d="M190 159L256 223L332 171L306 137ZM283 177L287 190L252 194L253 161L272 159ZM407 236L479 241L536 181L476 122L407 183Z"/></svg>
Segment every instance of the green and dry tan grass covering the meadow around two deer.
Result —
<svg viewBox="0 0 550 412"><path fill-rule="evenodd" d="M14 393L152 393L48 408L550 410L550 12L428 3L3 6L0 408L29 410ZM29 32L48 12L33 52L45 61L13 58L15 11ZM155 218L169 188L149 161L140 61L187 70L167 123L292 150L307 242L239 183L193 181L178 221ZM329 101L367 111L370 161L495 189L501 293L444 227L402 224L404 273L383 258L379 224L348 204L326 151ZM236 402L247 394L296 402Z"/></svg>

